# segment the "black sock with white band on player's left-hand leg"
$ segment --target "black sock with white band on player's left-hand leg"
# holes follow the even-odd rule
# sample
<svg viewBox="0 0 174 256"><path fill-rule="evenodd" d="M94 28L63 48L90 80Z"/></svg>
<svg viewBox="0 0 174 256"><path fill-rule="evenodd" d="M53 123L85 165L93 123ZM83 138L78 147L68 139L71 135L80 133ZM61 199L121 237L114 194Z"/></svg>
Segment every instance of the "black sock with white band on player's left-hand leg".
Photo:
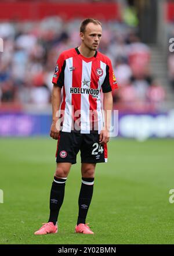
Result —
<svg viewBox="0 0 174 256"><path fill-rule="evenodd" d="M52 183L52 189L50 191L50 202L49 202L50 215L49 215L48 222L53 222L55 225L59 215L60 207L63 204L65 184L66 184L66 178L54 177L54 181Z"/></svg>

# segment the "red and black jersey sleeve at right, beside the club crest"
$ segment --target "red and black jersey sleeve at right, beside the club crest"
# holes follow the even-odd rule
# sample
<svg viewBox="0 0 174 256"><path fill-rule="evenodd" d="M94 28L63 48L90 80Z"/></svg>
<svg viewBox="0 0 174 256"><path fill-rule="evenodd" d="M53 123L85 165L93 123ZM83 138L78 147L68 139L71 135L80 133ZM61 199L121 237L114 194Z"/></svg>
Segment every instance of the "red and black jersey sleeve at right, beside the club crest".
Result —
<svg viewBox="0 0 174 256"><path fill-rule="evenodd" d="M109 91L113 91L117 88L118 88L117 80L115 78L113 66L110 61L106 65L106 77L102 84L102 91L103 93L108 93Z"/></svg>

